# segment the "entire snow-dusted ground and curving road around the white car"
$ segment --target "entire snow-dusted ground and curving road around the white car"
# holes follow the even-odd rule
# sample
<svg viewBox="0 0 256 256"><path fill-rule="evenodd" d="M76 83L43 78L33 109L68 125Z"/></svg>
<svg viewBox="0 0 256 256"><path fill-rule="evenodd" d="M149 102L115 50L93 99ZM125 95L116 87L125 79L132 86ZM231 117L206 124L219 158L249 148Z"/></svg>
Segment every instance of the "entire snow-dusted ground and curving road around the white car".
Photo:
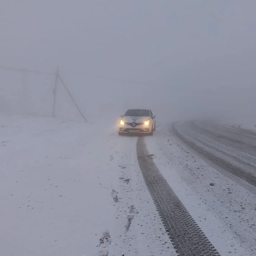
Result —
<svg viewBox="0 0 256 256"><path fill-rule="evenodd" d="M256 255L253 125L102 122L0 118L0 255Z"/></svg>

